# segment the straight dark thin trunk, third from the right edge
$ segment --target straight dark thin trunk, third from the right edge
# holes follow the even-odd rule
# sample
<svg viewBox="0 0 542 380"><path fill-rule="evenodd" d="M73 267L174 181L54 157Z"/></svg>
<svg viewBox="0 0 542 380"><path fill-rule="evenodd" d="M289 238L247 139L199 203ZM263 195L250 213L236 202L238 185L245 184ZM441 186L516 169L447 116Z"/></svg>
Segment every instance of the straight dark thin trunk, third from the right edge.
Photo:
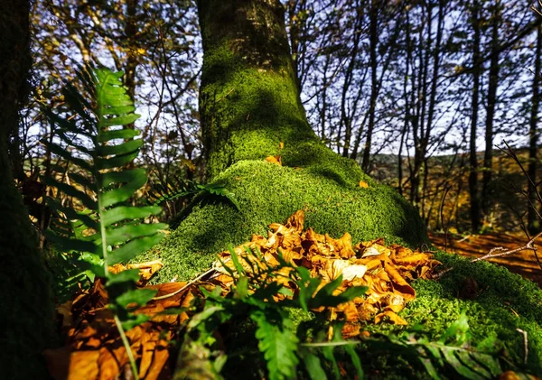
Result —
<svg viewBox="0 0 542 380"><path fill-rule="evenodd" d="M481 52L480 52L480 5L478 1L471 8L472 30L472 116L470 138L469 193L471 195L471 231L480 230L480 201L478 198L478 157L476 156L476 125L478 125L478 106L480 97Z"/></svg>

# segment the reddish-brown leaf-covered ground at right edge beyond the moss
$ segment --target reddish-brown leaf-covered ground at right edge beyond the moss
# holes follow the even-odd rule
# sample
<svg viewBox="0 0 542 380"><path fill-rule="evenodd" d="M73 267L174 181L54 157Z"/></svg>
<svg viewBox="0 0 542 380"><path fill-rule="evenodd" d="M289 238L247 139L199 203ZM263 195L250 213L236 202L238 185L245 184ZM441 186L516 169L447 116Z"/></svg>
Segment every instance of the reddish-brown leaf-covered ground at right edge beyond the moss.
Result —
<svg viewBox="0 0 542 380"><path fill-rule="evenodd" d="M528 239L520 234L484 234L461 236L444 233L429 233L434 246L448 253L456 253L465 257L480 257L488 254L492 248L504 247L507 250L525 246ZM539 239L538 258L542 261L542 239ZM491 263L506 266L509 271L519 273L525 278L542 287L542 269L537 264L537 258L532 250L524 249L511 255L504 255L490 260Z"/></svg>

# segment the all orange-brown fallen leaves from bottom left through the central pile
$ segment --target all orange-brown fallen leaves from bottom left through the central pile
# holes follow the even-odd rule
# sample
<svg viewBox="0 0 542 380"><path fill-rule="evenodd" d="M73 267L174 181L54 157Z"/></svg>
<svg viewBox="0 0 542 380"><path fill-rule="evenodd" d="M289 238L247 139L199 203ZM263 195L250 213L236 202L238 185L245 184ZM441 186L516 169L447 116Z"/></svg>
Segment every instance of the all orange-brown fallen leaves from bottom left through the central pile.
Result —
<svg viewBox="0 0 542 380"><path fill-rule="evenodd" d="M232 252L220 253L208 275L200 276L198 282L146 285L153 273L162 267L159 261L117 264L109 268L114 273L139 269L138 285L157 291L153 301L135 310L136 314L145 314L150 320L126 331L141 379L171 378L174 360L171 360L170 350L174 348L178 331L194 314L194 303L204 297L201 287L211 291L220 286L222 295L227 294L234 283L231 274L238 275L234 262L240 263L243 270L252 275L263 273L254 273L255 268L273 270L276 267L273 281L290 289L293 284L287 274L292 268L280 265L279 255L285 262L303 266L312 276L321 277L321 286L342 276L341 286L335 290L337 293L352 286L368 287L365 297L326 310L329 320L345 321L341 331L343 338L368 336L363 327L369 323L385 321L406 325L406 320L398 313L405 308L406 302L416 298L416 291L409 282L430 278L435 266L441 264L431 253L413 251L405 246L386 246L382 238L352 245L348 232L335 239L318 234L310 227L304 229L303 210L296 211L284 225L272 223L269 228L266 237L254 235L250 242ZM251 255L251 251L261 255ZM242 260L230 260L232 253ZM291 291L293 293L295 289ZM285 294L279 296L287 297ZM57 308L65 345L44 353L53 378L131 377L126 349L107 302L104 284L98 279L91 289L79 290L73 301ZM201 306L200 302L199 310ZM332 331L328 331L328 335L331 337Z"/></svg>

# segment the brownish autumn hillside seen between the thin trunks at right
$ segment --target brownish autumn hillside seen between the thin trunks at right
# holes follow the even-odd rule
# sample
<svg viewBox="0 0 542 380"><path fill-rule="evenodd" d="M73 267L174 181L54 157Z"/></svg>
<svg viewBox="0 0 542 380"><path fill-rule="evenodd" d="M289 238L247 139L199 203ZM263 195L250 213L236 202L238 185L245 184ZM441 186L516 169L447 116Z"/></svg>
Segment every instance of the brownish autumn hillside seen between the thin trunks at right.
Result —
<svg viewBox="0 0 542 380"><path fill-rule="evenodd" d="M528 149L516 149L519 162L527 170ZM483 152L478 152L479 168ZM542 157L542 150L538 152ZM539 162L541 160L538 160ZM403 193L408 199L409 168L406 157L402 159ZM469 154L441 155L428 160L428 177L420 214L431 229L449 228L453 231L470 229L470 194L468 187ZM376 154L372 157L369 174L398 188L397 154ZM479 191L481 192L481 169L479 169ZM538 181L542 179L542 162L538 165ZM483 216L485 230L520 231L521 223L526 222L528 202L525 197L527 178L517 162L500 150L493 151L492 180L489 191L490 209ZM537 205L541 207L542 205Z"/></svg>

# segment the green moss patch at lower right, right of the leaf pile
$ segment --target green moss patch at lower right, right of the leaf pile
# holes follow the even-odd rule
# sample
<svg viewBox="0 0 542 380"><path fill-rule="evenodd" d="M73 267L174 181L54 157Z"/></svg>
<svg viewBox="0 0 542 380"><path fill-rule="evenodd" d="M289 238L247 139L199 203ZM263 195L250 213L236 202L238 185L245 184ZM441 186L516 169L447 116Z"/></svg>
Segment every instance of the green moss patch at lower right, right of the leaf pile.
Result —
<svg viewBox="0 0 542 380"><path fill-rule="evenodd" d="M454 270L438 282L413 283L416 300L400 313L409 326L370 325L369 331L406 336L412 326L420 325L418 334L436 339L465 312L472 346L504 355L516 366L522 366L524 358L523 335L517 329L527 331L527 369L542 374L542 292L537 285L496 264L472 264L442 252L436 253L436 258ZM479 284L479 294L472 300L460 298L466 279Z"/></svg>

